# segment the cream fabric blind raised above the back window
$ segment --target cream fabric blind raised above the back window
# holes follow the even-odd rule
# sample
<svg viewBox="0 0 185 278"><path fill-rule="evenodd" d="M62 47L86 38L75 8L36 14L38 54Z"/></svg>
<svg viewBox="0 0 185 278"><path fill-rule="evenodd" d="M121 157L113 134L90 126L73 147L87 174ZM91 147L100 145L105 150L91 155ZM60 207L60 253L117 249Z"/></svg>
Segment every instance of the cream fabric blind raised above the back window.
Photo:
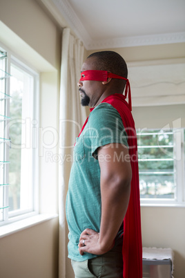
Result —
<svg viewBox="0 0 185 278"><path fill-rule="evenodd" d="M185 59L128 63L133 106L185 103Z"/></svg>

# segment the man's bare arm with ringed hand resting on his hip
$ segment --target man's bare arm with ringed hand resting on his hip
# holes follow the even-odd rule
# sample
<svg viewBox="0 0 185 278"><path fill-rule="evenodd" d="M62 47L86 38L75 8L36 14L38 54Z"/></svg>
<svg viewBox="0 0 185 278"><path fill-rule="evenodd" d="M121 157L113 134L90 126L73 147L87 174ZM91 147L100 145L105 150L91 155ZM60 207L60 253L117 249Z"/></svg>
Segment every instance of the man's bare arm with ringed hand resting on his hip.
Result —
<svg viewBox="0 0 185 278"><path fill-rule="evenodd" d="M113 247L130 197L132 172L127 147L116 143L100 147L98 160L101 170L100 231L98 233L86 229L81 233L80 254L84 252L104 254ZM83 246L84 239L86 246Z"/></svg>

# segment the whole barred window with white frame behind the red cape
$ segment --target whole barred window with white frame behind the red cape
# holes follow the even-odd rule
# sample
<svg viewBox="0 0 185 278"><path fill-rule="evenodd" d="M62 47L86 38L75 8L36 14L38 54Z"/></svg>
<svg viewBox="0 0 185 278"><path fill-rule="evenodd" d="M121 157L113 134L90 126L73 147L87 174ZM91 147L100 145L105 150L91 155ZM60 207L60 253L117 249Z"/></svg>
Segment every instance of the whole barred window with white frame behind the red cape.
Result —
<svg viewBox="0 0 185 278"><path fill-rule="evenodd" d="M141 203L184 204L184 129L137 130Z"/></svg>

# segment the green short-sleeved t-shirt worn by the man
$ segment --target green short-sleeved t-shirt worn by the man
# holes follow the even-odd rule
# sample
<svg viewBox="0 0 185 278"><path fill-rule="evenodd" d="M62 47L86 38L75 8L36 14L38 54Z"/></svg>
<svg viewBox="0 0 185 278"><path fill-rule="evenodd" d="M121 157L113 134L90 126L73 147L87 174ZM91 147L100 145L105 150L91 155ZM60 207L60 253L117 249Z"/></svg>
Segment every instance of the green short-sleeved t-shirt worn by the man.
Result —
<svg viewBox="0 0 185 278"><path fill-rule="evenodd" d="M112 142L128 147L121 116L112 105L104 102L90 113L86 127L74 147L74 161L66 198L66 217L69 228L68 257L75 261L97 257L90 253L81 256L78 243L81 232L86 228L99 232L101 192L97 149Z"/></svg>

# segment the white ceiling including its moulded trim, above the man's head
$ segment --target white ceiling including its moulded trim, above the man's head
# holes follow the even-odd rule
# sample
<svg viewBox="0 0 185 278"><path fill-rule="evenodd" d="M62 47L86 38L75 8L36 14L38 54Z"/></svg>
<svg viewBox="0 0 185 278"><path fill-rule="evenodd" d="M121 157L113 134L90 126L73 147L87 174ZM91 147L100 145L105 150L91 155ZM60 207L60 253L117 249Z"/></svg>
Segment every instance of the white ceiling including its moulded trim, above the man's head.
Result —
<svg viewBox="0 0 185 278"><path fill-rule="evenodd" d="M185 0L47 1L87 50L185 42Z"/></svg>

